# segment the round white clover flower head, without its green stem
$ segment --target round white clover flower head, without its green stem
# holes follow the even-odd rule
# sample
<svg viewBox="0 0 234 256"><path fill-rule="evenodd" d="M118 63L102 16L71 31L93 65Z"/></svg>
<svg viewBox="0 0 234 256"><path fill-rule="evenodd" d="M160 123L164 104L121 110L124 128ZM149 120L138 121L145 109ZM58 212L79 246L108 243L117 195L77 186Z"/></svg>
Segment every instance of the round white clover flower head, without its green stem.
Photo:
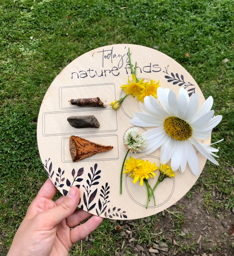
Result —
<svg viewBox="0 0 234 256"><path fill-rule="evenodd" d="M146 139L137 128L129 128L124 135L124 145L132 153L141 152L146 147Z"/></svg>

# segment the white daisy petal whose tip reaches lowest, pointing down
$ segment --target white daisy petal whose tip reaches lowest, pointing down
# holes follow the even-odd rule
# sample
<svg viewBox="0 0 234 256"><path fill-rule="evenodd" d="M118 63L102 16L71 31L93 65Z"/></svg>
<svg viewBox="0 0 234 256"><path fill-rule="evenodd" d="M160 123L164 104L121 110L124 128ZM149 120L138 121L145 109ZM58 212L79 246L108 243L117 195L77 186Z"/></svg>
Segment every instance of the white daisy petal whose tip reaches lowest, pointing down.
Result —
<svg viewBox="0 0 234 256"><path fill-rule="evenodd" d="M196 152L189 140L184 141L185 155L187 158L188 165L192 173L196 176L199 174L199 162Z"/></svg>

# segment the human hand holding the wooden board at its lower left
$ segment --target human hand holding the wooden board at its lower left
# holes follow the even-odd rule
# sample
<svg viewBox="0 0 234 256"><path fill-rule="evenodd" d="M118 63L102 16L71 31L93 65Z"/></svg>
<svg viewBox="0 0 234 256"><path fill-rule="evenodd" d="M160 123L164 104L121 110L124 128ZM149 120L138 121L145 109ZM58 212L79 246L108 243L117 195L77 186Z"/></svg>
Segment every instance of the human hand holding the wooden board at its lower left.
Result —
<svg viewBox="0 0 234 256"><path fill-rule="evenodd" d="M53 201L56 192L54 184L47 179L29 206L7 256L68 255L73 244L102 222L103 218L76 209L80 197L77 187L72 187L66 197Z"/></svg>

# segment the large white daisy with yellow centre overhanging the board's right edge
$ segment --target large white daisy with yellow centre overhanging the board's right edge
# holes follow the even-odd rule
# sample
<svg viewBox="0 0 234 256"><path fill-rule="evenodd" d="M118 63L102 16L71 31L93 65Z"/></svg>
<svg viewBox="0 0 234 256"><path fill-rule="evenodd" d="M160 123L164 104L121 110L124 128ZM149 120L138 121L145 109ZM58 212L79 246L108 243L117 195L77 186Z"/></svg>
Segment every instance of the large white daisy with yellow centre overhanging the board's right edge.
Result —
<svg viewBox="0 0 234 256"><path fill-rule="evenodd" d="M171 160L173 171L180 168L184 172L188 163L194 175L198 175L199 164L194 145L203 156L218 165L213 157L216 155L212 153L218 150L211 147L212 144L198 141L209 138L212 129L222 120L221 115L213 117L212 96L209 96L199 111L198 94L194 93L189 99L184 88L180 88L178 99L175 92L168 88L159 87L157 96L157 99L151 95L146 96L144 106L140 102L142 113L136 112L130 121L136 126L156 126L143 134L147 140L145 153L151 154L161 146L160 161L163 165Z"/></svg>

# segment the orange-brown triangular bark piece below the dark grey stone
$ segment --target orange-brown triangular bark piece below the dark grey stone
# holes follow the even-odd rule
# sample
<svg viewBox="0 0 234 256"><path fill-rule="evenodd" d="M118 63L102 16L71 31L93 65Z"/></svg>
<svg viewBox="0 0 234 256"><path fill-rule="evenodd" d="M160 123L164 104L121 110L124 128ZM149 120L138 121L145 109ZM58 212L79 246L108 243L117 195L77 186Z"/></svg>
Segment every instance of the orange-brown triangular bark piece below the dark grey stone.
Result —
<svg viewBox="0 0 234 256"><path fill-rule="evenodd" d="M86 157L91 157L97 153L112 150L113 146L104 146L89 140L72 135L69 141L69 148L73 162L77 162Z"/></svg>

